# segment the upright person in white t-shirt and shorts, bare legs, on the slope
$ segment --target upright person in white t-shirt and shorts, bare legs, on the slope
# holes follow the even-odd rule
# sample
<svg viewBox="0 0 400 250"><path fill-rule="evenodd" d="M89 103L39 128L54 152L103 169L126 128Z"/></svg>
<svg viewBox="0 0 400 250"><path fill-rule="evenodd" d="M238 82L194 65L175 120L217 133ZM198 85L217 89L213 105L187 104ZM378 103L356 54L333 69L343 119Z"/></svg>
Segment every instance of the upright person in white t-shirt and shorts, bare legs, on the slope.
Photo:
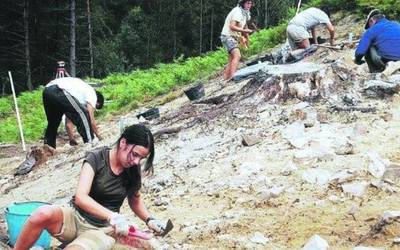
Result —
<svg viewBox="0 0 400 250"><path fill-rule="evenodd" d="M225 80L230 80L238 67L241 57L239 44L249 46L249 34L253 33L253 30L247 27L247 21L251 17L252 5L251 0L240 0L238 6L233 8L225 19L221 32L221 42L229 54L229 62L224 71Z"/></svg>

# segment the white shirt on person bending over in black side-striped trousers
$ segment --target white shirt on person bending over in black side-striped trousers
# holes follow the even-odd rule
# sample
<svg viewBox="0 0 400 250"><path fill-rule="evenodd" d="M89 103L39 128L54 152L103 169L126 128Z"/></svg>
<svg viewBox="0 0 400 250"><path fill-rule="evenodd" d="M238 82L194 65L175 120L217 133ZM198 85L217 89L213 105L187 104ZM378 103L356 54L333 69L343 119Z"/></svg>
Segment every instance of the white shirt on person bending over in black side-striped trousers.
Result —
<svg viewBox="0 0 400 250"><path fill-rule="evenodd" d="M96 108L97 96L95 90L81 79L75 77L57 78L49 82L46 88L53 85L57 85L60 89L67 91L82 105L86 106L89 103L94 109Z"/></svg>

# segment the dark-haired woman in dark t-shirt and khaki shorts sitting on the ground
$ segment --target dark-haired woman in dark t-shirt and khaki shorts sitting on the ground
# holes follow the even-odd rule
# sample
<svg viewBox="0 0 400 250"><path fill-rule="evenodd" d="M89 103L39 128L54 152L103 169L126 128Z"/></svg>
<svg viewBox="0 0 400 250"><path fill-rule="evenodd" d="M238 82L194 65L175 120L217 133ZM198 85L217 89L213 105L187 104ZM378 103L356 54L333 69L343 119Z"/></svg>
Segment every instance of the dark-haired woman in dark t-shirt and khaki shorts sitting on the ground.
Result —
<svg viewBox="0 0 400 250"><path fill-rule="evenodd" d="M128 235L129 223L120 214L125 198L131 210L154 231L164 232L162 223L145 208L140 188L143 172L153 174L154 138L143 125L127 127L113 148L89 153L83 163L72 207L48 205L38 208L27 220L15 250L27 250L46 229L65 249L111 249L115 239L104 232L113 226L116 234Z"/></svg>

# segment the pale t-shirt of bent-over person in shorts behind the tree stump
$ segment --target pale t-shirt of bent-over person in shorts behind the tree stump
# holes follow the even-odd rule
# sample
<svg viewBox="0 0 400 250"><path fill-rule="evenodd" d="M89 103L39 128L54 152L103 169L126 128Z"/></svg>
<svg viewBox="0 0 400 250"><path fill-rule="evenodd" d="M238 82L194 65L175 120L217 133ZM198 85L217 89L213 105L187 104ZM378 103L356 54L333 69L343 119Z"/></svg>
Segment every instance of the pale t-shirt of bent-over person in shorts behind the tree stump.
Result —
<svg viewBox="0 0 400 250"><path fill-rule="evenodd" d="M315 26L319 24L328 24L331 23L328 15L320 9L317 8L308 8L290 20L289 24L295 24L299 26L303 26L307 30L311 30Z"/></svg>

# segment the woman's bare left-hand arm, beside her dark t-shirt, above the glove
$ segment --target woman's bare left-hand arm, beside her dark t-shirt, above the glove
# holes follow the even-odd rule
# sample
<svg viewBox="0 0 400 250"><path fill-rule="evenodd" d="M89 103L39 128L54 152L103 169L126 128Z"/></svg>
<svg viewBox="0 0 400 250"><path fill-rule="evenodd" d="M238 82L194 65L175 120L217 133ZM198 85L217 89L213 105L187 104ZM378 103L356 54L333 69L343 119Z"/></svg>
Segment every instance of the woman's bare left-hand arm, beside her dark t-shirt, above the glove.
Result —
<svg viewBox="0 0 400 250"><path fill-rule="evenodd" d="M94 171L89 163L85 162L79 175L78 188L75 194L75 205L90 213L96 218L108 220L113 212L89 196L93 184Z"/></svg>

